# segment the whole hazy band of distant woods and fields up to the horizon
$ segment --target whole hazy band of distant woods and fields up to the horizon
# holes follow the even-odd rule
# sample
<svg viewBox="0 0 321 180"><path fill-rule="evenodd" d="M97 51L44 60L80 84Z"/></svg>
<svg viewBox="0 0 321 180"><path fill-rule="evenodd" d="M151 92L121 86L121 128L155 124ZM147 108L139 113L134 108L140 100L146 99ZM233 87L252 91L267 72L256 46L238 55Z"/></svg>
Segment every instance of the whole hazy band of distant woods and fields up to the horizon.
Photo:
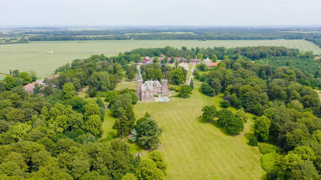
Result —
<svg viewBox="0 0 321 180"><path fill-rule="evenodd" d="M251 40L321 38L315 28L281 27L125 27L103 30L74 30L63 28L20 28L0 37L28 37L30 41L63 40L126 40L126 39L194 39L194 40Z"/></svg>

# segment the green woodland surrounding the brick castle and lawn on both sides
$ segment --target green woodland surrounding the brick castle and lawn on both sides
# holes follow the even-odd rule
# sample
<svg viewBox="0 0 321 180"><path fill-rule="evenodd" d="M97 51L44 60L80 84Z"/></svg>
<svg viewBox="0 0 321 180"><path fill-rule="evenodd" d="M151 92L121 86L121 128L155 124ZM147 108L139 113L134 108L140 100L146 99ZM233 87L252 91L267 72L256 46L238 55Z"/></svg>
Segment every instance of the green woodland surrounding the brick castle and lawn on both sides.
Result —
<svg viewBox="0 0 321 180"><path fill-rule="evenodd" d="M162 128L146 112L135 119L138 101L133 89L115 90L126 75L135 78L142 57L181 57L219 61L213 68L204 64L194 71L203 81L205 95L224 94L217 111L204 106L202 118L218 123L231 134L243 131L245 111L256 115L254 137L262 143L262 168L267 179L317 179L321 172L321 106L314 88L321 88L321 63L311 52L285 47L238 47L226 49L164 48L134 49L106 57L92 55L58 67L47 86L35 85L33 94L22 88L36 79L35 72L13 70L0 81L0 177L2 179L165 179L166 163L157 151ZM193 83L183 85L187 71L160 64L141 66L143 79L169 79L178 96L188 98ZM126 71L124 74L123 72ZM200 75L200 71L206 71ZM163 74L164 73L164 74ZM86 100L76 96L89 86ZM116 122L116 137L103 135L105 97ZM123 141L130 140L152 151L141 160ZM275 145L272 145L275 144Z"/></svg>

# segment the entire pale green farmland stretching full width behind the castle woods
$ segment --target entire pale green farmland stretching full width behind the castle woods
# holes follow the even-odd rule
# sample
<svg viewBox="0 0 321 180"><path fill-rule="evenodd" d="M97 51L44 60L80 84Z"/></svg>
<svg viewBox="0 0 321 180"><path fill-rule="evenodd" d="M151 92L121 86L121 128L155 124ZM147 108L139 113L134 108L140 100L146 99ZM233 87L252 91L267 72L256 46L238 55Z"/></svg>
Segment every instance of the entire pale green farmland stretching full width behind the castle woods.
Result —
<svg viewBox="0 0 321 180"><path fill-rule="evenodd" d="M227 48L237 46L285 46L298 48L301 51L312 50L321 54L321 49L305 40L278 40L234 45L264 40L101 40L101 41L32 41L25 44L0 45L0 73L8 74L9 70L36 70L38 78L44 78L54 73L57 67L71 63L74 59L88 58L92 54L105 53L115 56L119 52L130 51L140 47L165 47L167 45L180 48L213 47L222 45ZM46 54L54 51L54 54ZM13 53L12 53L13 52Z"/></svg>

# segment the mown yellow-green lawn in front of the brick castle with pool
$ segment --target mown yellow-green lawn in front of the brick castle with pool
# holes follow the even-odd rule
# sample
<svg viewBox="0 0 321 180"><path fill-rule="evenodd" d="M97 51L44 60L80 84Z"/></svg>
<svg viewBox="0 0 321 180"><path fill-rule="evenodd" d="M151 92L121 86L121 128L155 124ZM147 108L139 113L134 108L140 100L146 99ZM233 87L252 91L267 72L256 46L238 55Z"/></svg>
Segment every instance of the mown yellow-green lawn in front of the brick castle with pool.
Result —
<svg viewBox="0 0 321 180"><path fill-rule="evenodd" d="M199 119L204 105L218 104L220 96L208 97L200 93L199 83L194 83L193 94L188 99L170 97L167 103L138 102L134 105L135 118L143 117L147 111L163 127L159 150L164 153L168 165L167 178L175 180L194 179L264 179L266 172L261 168L262 154L258 147L248 145L253 136L254 120L249 119L245 130L239 135L230 135L216 122ZM176 95L177 93L172 93ZM229 107L233 113L237 109ZM247 115L253 118L252 114ZM103 122L104 134L115 135L111 127L115 119L106 111ZM129 144L131 152L142 152L143 158L148 151Z"/></svg>

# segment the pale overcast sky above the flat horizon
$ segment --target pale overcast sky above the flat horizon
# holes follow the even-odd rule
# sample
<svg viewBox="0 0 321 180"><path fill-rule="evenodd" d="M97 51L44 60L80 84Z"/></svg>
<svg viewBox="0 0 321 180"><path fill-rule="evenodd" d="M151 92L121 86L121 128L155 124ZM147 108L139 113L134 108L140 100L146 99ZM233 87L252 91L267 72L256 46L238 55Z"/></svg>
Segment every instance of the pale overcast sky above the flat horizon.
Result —
<svg viewBox="0 0 321 180"><path fill-rule="evenodd" d="M1 26L320 25L321 0L3 0Z"/></svg>

